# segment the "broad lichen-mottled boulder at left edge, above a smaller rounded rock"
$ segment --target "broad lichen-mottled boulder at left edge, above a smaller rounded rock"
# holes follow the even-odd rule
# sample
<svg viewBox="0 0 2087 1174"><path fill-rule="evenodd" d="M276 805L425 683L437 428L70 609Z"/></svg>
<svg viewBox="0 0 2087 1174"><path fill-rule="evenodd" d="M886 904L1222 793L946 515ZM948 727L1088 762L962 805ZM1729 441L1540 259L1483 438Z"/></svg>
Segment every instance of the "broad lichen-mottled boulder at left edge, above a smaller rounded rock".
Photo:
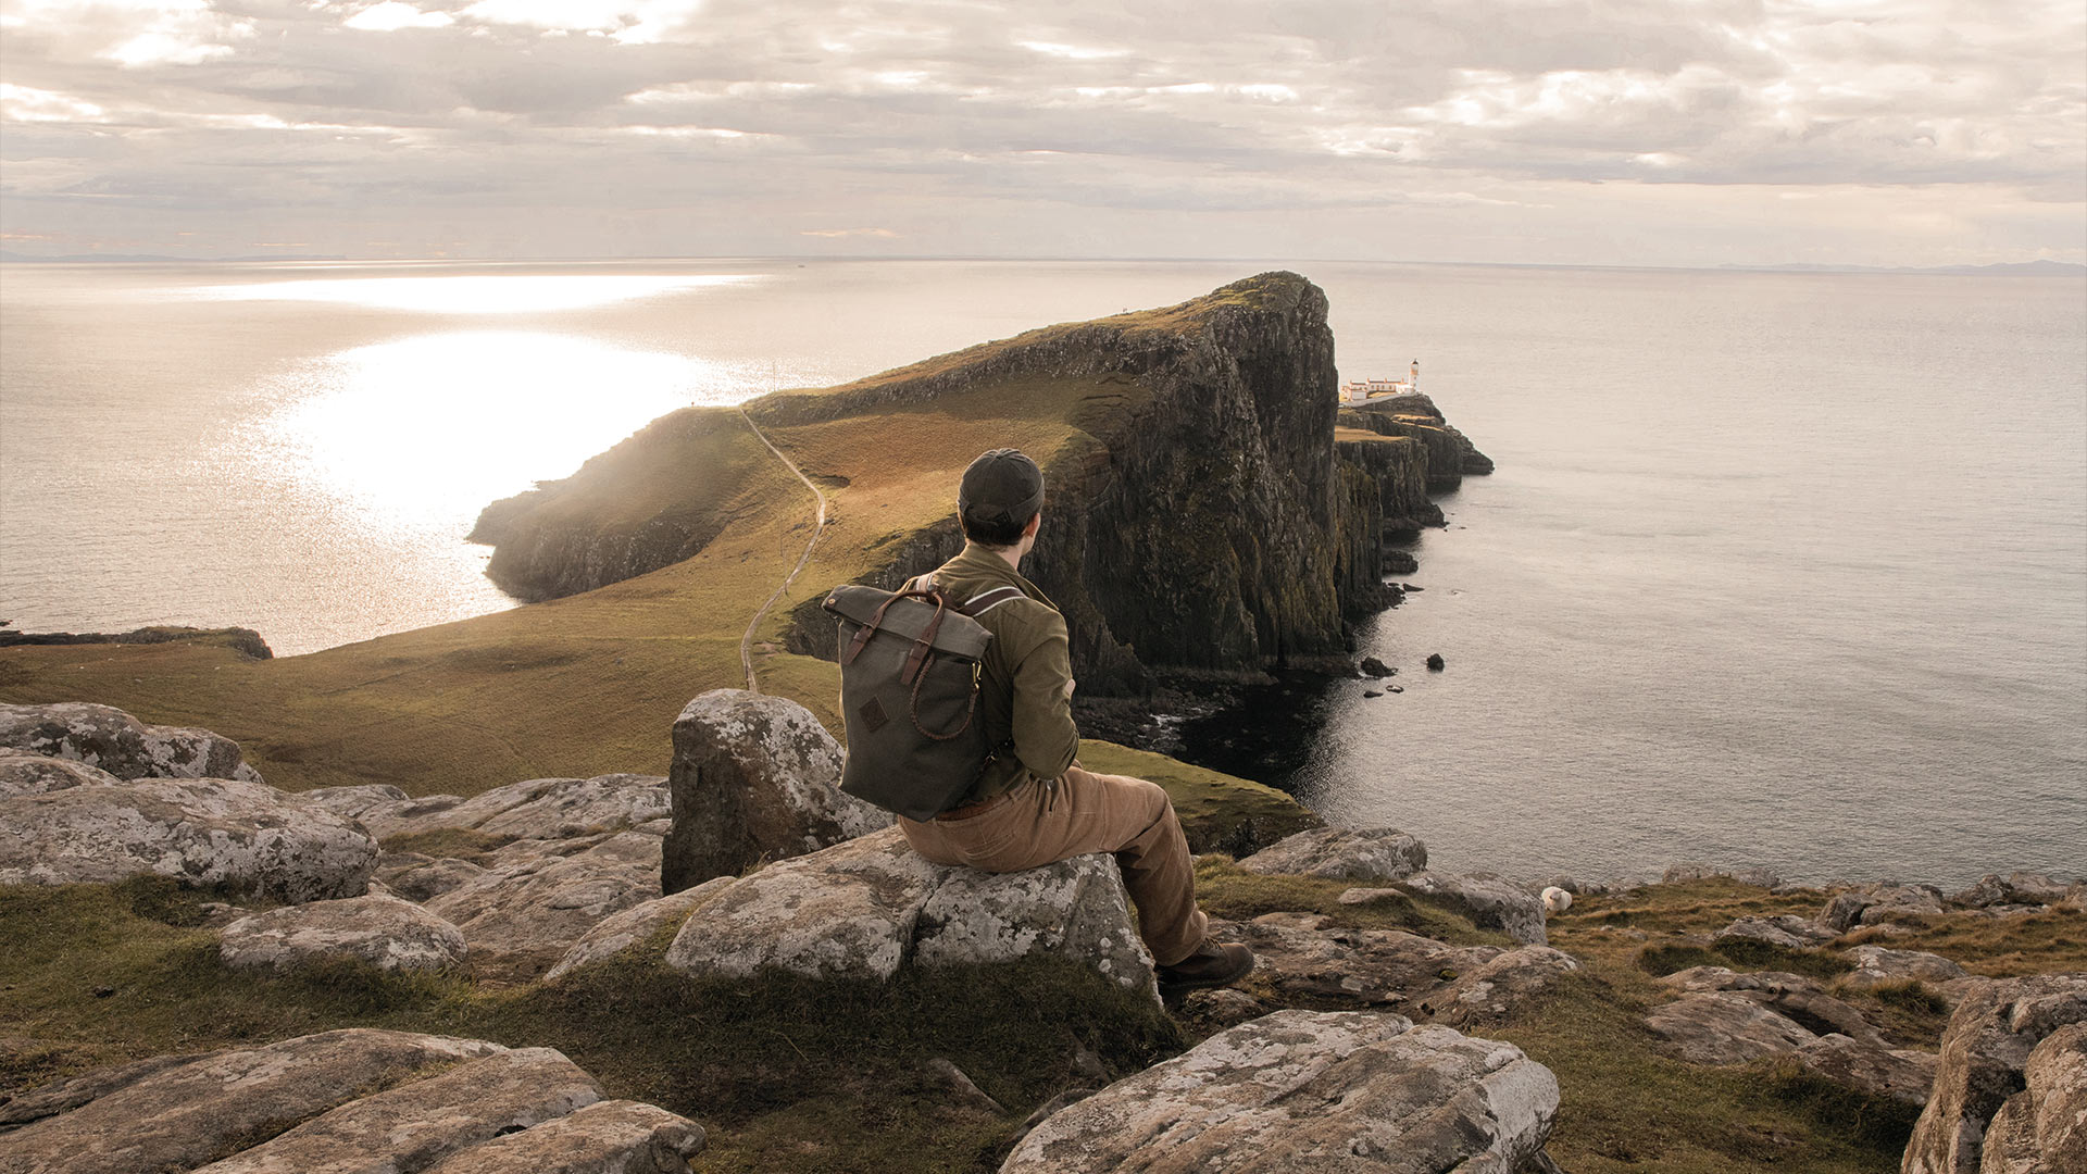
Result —
<svg viewBox="0 0 2087 1174"><path fill-rule="evenodd" d="M303 902L361 896L376 856L361 825L267 783L138 779L0 800L0 884L159 873Z"/></svg>

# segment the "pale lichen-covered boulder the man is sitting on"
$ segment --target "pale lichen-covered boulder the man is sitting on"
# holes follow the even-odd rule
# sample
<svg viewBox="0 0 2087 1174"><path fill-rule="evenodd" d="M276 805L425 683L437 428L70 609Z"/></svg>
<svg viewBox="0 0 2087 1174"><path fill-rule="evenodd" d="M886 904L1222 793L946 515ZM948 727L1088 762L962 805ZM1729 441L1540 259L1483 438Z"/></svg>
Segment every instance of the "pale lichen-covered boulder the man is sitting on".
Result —
<svg viewBox="0 0 2087 1174"><path fill-rule="evenodd" d="M751 976L891 978L902 965L962 965L1052 953L1112 982L1156 990L1110 856L1021 873L933 865L897 827L768 865L714 890L682 923L668 965Z"/></svg>

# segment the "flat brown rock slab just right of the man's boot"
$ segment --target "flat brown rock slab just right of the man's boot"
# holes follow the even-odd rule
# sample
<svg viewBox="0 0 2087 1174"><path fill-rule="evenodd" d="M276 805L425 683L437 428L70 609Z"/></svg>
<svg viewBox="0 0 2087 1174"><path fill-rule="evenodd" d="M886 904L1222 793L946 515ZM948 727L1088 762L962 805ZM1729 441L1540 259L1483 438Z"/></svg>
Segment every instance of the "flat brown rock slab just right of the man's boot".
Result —
<svg viewBox="0 0 2087 1174"><path fill-rule="evenodd" d="M1344 930L1317 913L1213 921L1210 934L1258 955L1254 982L1281 999L1396 1007L1455 1028L1498 1022L1580 969L1549 946L1448 946L1402 930Z"/></svg>

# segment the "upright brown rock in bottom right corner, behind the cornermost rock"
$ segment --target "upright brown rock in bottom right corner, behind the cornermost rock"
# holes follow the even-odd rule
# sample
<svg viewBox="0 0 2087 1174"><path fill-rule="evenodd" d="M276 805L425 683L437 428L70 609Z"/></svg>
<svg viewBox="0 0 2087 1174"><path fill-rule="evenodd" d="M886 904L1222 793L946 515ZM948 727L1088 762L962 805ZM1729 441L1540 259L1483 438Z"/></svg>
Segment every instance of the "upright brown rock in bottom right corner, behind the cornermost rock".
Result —
<svg viewBox="0 0 2087 1174"><path fill-rule="evenodd" d="M1901 1174L1978 1174L1987 1128L2022 1090L2031 1053L2045 1036L2081 1022L2087 1022L2087 973L1974 986L1943 1030L1935 1095L1914 1124Z"/></svg>

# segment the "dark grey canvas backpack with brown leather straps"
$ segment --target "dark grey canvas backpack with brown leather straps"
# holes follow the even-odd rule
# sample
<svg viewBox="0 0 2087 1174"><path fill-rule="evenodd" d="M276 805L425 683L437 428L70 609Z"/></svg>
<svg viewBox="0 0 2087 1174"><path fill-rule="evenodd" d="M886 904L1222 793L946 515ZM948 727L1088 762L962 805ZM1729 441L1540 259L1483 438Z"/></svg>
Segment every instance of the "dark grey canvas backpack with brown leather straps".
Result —
<svg viewBox="0 0 2087 1174"><path fill-rule="evenodd" d="M995 748L979 719L979 660L993 633L975 616L1021 600L993 587L952 604L933 579L897 591L843 585L826 593L841 625L841 790L908 819L958 806Z"/></svg>

